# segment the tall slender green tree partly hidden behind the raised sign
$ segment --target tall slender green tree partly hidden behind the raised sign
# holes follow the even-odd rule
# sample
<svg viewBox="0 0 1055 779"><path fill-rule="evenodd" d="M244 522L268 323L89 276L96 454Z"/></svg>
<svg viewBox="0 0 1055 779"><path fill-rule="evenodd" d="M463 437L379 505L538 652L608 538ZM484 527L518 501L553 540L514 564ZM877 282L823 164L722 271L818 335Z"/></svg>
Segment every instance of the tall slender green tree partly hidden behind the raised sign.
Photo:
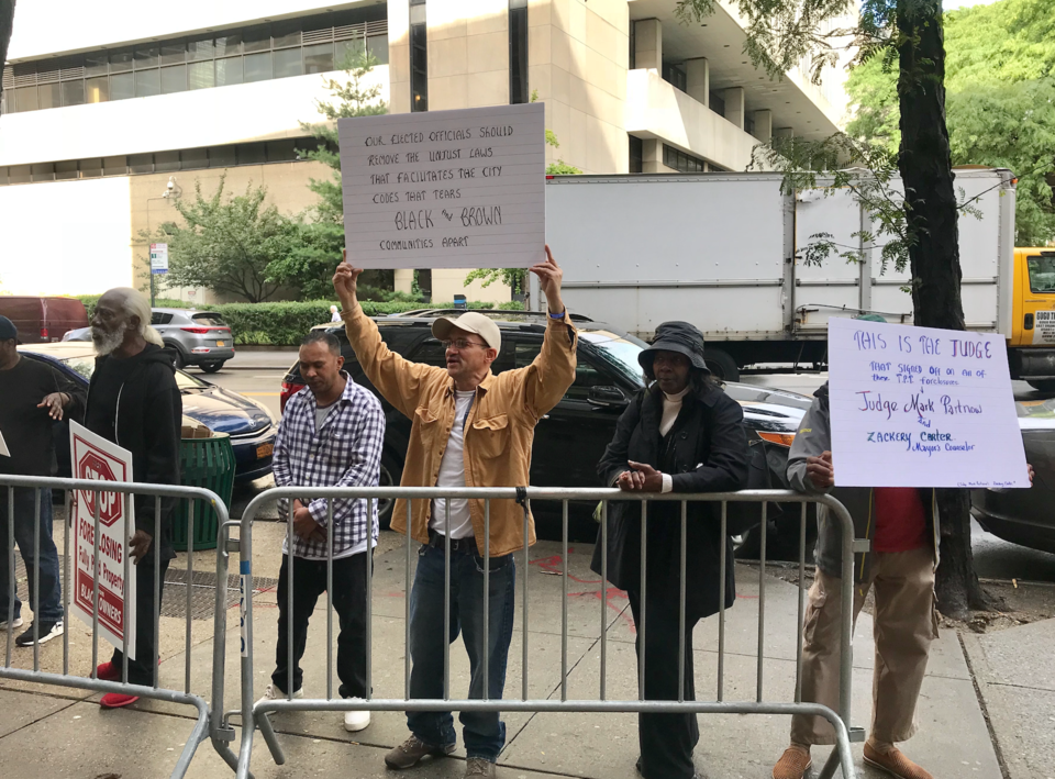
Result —
<svg viewBox="0 0 1055 779"><path fill-rule="evenodd" d="M376 116L388 113L380 100L380 85L368 85L368 76L377 65L365 46L356 47L338 65L346 79L337 81L323 77L330 100L315 104L324 122L301 122L301 130L320 141L318 148L302 154L331 168L329 178L311 179L308 188L319 201L303 214L300 224L301 241L290 254L271 268L271 278L297 287L304 300L333 297L331 279L341 261L344 248L344 200L341 190L341 155L338 154L337 120L346 116ZM391 271L366 271L364 287L386 285L391 288ZM370 296L365 296L364 300Z"/></svg>

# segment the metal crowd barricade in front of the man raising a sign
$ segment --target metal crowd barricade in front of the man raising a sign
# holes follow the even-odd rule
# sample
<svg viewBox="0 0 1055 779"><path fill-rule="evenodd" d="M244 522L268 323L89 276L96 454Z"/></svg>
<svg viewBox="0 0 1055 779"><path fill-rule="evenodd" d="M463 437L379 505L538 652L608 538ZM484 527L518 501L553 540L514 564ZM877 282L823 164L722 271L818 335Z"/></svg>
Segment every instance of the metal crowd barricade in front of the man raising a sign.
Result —
<svg viewBox="0 0 1055 779"><path fill-rule="evenodd" d="M293 683L292 683L292 674L295 664L292 661L292 656L289 658L289 679L286 682L286 698L284 700L268 700L260 701L259 703L254 702L254 657L253 657L253 587L252 587L252 560L253 560L253 523L256 519L256 514L263 505L264 501L273 500L275 498L300 498L310 496L311 498L325 498L330 505L330 514L332 516L333 504L332 500L334 499L365 499L374 503L374 501L381 499L407 499L407 533L406 533L406 555L407 555L407 570L404 574L406 577L406 613L404 613L404 669L403 669L403 697L397 699L379 699L374 698L371 694L371 668L370 668L370 656L369 647L373 639L373 604L370 602L370 578L371 578L371 566L368 565L367 569L367 581L366 581L366 594L367 594L367 638L366 638L366 690L367 698L366 700L359 699L334 699L333 698L333 596L330 592L331 588L327 588L326 592L326 698L325 699L297 699L292 698L293 693ZM599 694L597 700L568 700L567 689L568 689L568 605L567 597L564 599L563 604L563 620L562 620L562 652L560 652L560 700L548 700L548 699L531 699L528 694L528 678L529 678L529 630L528 630L528 604L529 604L529 585L528 585L528 566L530 563L530 553L525 546L522 552L517 553L521 556L524 565L524 575L522 578L522 603L523 603L523 669L522 669L522 689L520 691L519 698L504 698L501 700L489 699L487 692L487 685L485 685L485 698L474 699L474 700L460 700L454 699L451 697L451 685L449 685L449 671L451 671L451 661L449 661L449 643L444 642L444 683L443 699L411 699L410 698L410 591L411 591L411 579L410 571L413 563L413 550L419 546L418 542L413 541L411 537L411 504L413 500L446 500L449 501L456 498L468 498L468 499L478 499L485 501L485 525L488 528L488 533L485 534L484 538L484 549L481 549L482 556L485 558L490 557L490 503L493 500L517 500L518 497L525 497L528 501L559 501L562 504L562 516L563 516L563 574L564 574L564 592L567 596L568 589L568 501L601 501L602 503L602 515L607 520L608 514L608 502L618 500L618 501L640 501L642 504L642 614L641 614L641 624L637 626L640 635L640 657L638 657L638 695L636 700L609 700L607 697L606 690L606 676L607 676L607 613L606 613L606 590L607 590L607 574L608 574L608 555L607 555L607 539L608 539L608 527L607 522L602 520L601 530L599 532L598 542L603 545L602 548L606 549L606 554L602 558L602 578L600 582L601 588L601 633L600 633L600 686ZM760 525L760 536L762 536L762 565L759 566L759 600L758 600L758 668L757 668L757 683L756 683L756 695L755 701L753 702L729 702L724 700L724 663L725 663L725 609L724 609L724 581L725 581L725 569L728 565L733 564L732 560L726 559L725 555L725 544L722 544L722 554L721 554L721 571L720 571L720 581L722 582L722 591L720 592L720 603L722 608L719 612L719 657L718 657L718 689L714 701L686 701L679 695L678 701L660 701L660 700L645 700L644 698L644 664L645 664L645 641L644 635L647 630L645 613L644 613L644 590L645 590L645 569L646 569L646 536L647 536L647 504L652 502L659 501L676 501L681 503L681 560L680 560L680 580L681 580L681 620L679 632L682 638L681 649L679 650L679 679L684 681L685 678L685 572L686 572L686 528L687 528L687 505L689 502L719 502L721 503L721 534L722 538L726 535L726 507L729 502L754 502L762 503L762 525ZM766 701L763 693L763 661L764 661L764 642L765 642L765 592L766 592L766 566L765 566L765 548L766 548L766 503L767 502L780 502L780 503L799 503L801 504L801 518L800 518L800 537L799 537L799 630L798 630L798 642L797 642L797 653L796 653L796 688L795 688L795 702L769 702ZM808 503L820 503L825 505L831 515L836 522L839 522L843 528L842 533L842 630L841 630L841 664L840 664L840 703L839 703L839 713L832 711L828 706L820 705L817 703L808 703L802 701L802 688L801 688L801 669L802 669L802 617L804 611L804 557L806 557L806 523L807 523L807 504ZM526 508L526 503L525 503ZM524 511L524 537L528 536L528 512ZM234 526L238 526L240 535L237 538L230 537L230 531ZM292 541L292 522L289 523L289 539ZM332 537L332 535L331 535ZM851 736L848 732L848 723L851 722L851 672L853 667L853 657L852 657L852 619L853 619L853 609L851 604L853 603L853 565L854 565L854 528L853 522L846 509L836 500L829 496L802 496L796 492L781 491L781 490L752 490L743 492L732 492L732 493L713 493L713 494L660 494L660 493L628 493L620 492L615 489L549 489L549 488L318 488L318 487L287 487L278 488L275 490L269 490L265 494L258 496L254 499L249 505L246 508L244 514L242 515L241 523L237 522L227 522L221 526L220 537L218 549L222 549L223 553L218 555L218 561L220 568L218 570L220 580L223 580L227 575L227 552L237 552L240 556L240 574L242 579L242 608L241 608L241 630L242 630L242 653L241 653L241 664L242 664L242 705L241 711L230 712L229 714L240 713L242 715L242 744L241 750L238 754L237 761L237 777L243 779L244 777L249 776L249 759L253 748L253 738L256 728L260 730L267 746L271 753L271 757L275 763L282 765L286 760L285 754L279 745L275 731L271 726L270 720L267 714L270 712L286 712L286 711L500 711L500 712L653 712L653 713L715 713L715 714L804 714L804 715L817 715L826 719L835 730L836 736L836 748L832 752L831 758L829 759L828 765L824 767L821 777L831 777L834 775L836 768L842 768L843 777L849 779L855 777L856 774L853 767L853 758L851 756L849 743ZM290 549L292 544L290 543ZM333 549L332 545L329 548L329 560L327 560L327 576L330 577L327 581L332 581L333 572ZM449 635L451 627L451 601L449 601L449 577L451 577L451 542L449 538L446 539L444 546L444 560L445 560L445 585L446 591L444 596L444 632L445 635ZM296 565L295 559L291 558L289 564ZM489 599L489 574L490 567L485 565L484 570L484 613L488 614L488 599ZM290 614L292 614L292 570L289 571L289 582L288 587L288 597L289 597L289 609ZM292 619L288 620L290 636L289 636L289 646L290 653L292 653ZM484 641L485 646L488 646L488 620L484 620ZM216 610L216 625L215 625L215 645L222 646L223 636L226 632L226 616L225 614L218 609ZM219 715L219 711L222 708L222 695L223 695L223 666L221 653L218 652L218 660L214 665L214 677L213 677L213 708L214 716ZM488 668L487 668L487 655L484 653L484 678L488 678ZM684 689L684 686L682 686ZM222 721L219 724L219 730L227 734L227 738L233 737L233 730L227 725L227 716L224 714ZM859 728L855 728L855 739L860 737ZM220 744L219 741L214 739L214 744Z"/></svg>

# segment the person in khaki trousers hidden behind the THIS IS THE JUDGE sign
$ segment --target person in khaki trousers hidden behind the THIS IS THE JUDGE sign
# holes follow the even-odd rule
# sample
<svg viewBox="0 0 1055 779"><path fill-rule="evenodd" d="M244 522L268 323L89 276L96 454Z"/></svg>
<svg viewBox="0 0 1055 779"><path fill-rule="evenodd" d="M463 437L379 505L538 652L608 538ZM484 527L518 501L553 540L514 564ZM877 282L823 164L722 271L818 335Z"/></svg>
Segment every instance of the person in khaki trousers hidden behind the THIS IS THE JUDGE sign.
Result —
<svg viewBox="0 0 1055 779"><path fill-rule="evenodd" d="M899 779L933 779L896 744L915 733L917 701L937 637L934 487L1028 487L1033 480L1000 338L832 319L831 386L814 393L788 456L791 488L831 492L853 518L854 535L870 542L870 552L854 559L852 604L856 621L875 588L873 719L864 759ZM1025 474L1018 471L1023 465ZM823 505L817 521L802 700L837 710L842 528ZM811 745L834 743L823 717L793 716L791 744L773 779L801 779Z"/></svg>

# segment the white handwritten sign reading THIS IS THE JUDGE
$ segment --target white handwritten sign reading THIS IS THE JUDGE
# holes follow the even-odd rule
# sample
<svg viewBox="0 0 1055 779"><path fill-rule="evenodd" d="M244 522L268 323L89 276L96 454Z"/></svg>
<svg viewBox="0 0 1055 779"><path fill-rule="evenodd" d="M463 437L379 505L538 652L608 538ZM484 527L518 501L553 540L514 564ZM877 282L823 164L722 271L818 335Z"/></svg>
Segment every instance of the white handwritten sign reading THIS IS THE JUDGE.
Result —
<svg viewBox="0 0 1055 779"><path fill-rule="evenodd" d="M840 487L1029 487L1003 336L832 319Z"/></svg>

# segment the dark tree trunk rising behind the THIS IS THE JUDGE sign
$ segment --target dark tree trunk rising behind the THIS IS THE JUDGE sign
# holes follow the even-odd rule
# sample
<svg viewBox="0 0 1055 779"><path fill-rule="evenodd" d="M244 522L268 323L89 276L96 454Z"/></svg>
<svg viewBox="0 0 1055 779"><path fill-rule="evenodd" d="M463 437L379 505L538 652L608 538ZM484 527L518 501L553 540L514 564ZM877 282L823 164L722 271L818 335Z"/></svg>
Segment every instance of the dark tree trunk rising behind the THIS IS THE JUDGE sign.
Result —
<svg viewBox="0 0 1055 779"><path fill-rule="evenodd" d="M899 168L904 183L912 268L912 305L922 327L964 330L959 293L959 231L945 126L945 46L941 0L900 0L898 94L901 103ZM937 600L942 613L963 619L988 601L970 550L970 500L966 490L939 490L942 563Z"/></svg>

